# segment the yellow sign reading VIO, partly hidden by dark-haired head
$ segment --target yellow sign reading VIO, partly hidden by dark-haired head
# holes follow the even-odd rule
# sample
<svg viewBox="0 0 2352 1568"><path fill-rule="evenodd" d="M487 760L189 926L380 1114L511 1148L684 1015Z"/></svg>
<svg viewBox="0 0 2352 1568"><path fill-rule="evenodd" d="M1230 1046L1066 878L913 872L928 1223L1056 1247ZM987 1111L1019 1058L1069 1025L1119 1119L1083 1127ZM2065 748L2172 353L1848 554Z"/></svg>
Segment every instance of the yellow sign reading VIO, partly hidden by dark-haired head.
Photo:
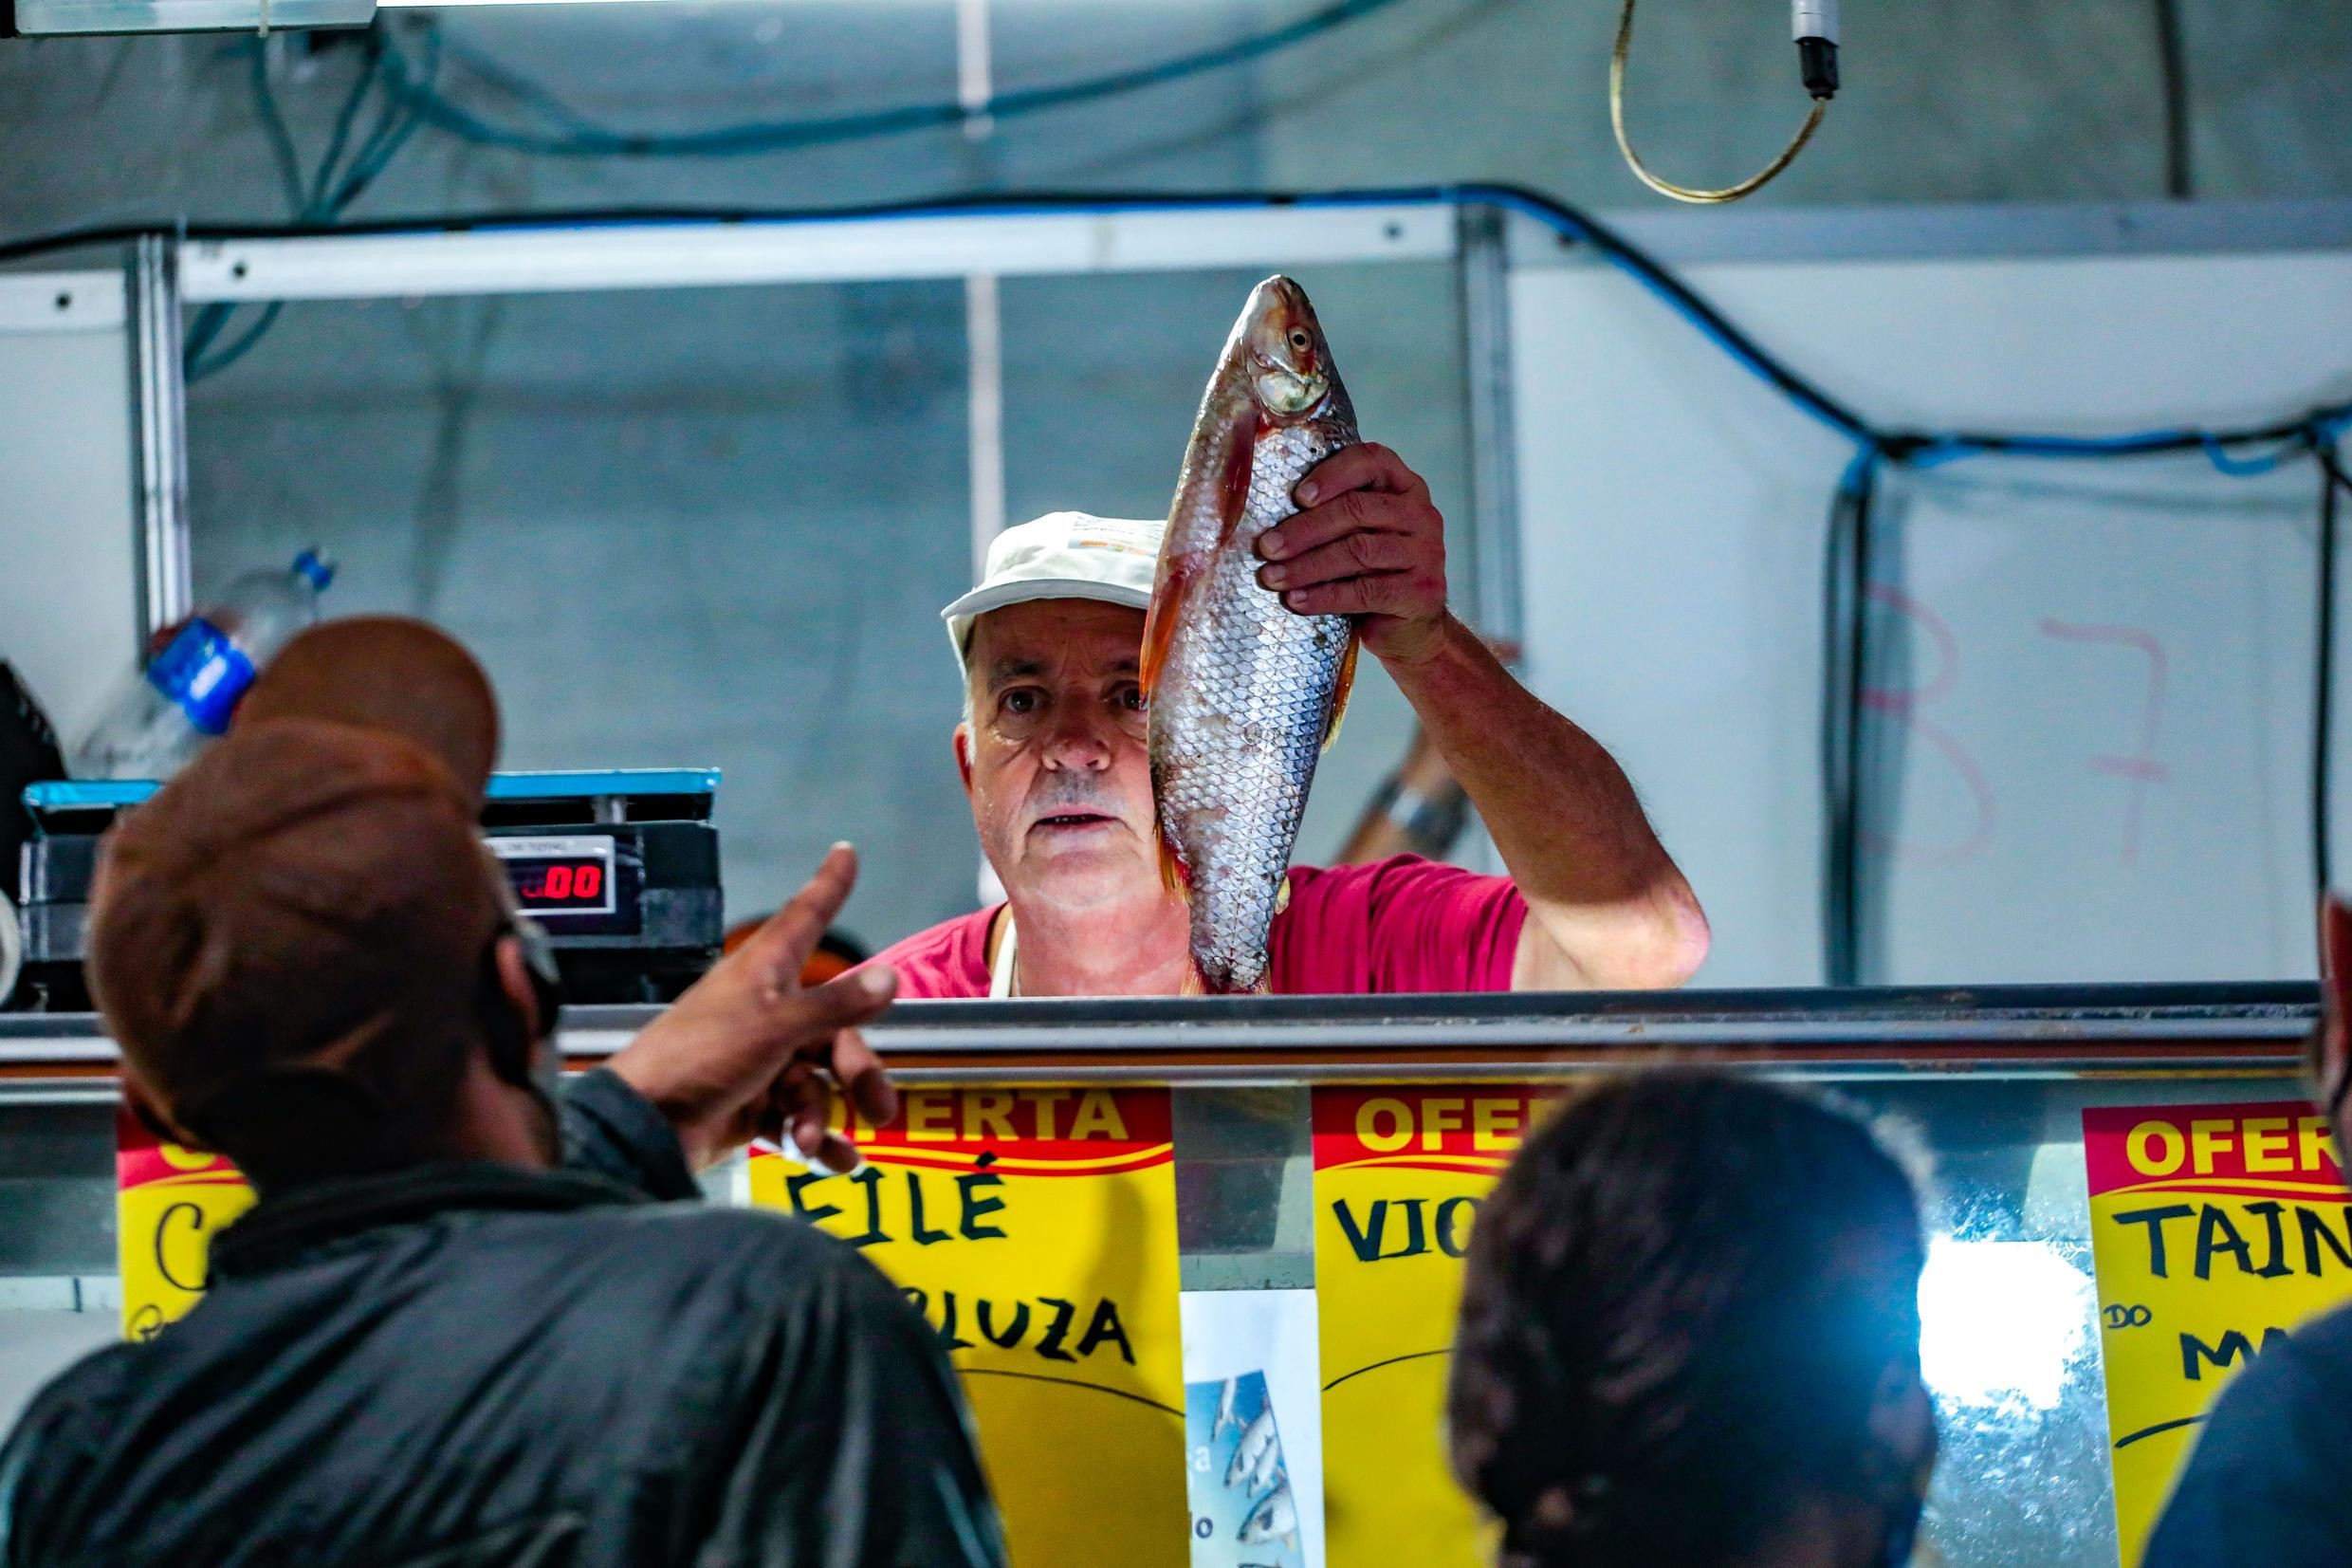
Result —
<svg viewBox="0 0 2352 1568"><path fill-rule="evenodd" d="M1470 1222L1555 1088L1315 1091L1329 1568L1486 1568L1444 1453Z"/></svg>

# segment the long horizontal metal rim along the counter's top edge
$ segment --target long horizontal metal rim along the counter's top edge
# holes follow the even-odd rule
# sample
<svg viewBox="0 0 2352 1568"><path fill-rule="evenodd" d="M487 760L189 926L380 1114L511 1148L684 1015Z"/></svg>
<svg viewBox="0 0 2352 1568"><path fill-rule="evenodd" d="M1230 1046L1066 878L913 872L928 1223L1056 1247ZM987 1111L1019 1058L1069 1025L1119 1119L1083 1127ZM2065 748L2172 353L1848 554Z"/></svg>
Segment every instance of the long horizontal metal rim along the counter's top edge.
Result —
<svg viewBox="0 0 2352 1568"><path fill-rule="evenodd" d="M2317 1009L2310 983L908 1001L866 1034L908 1084L1552 1077L1661 1053L1849 1079L2293 1077ZM564 1009L564 1056L602 1060L656 1016ZM115 1060L89 1013L0 1016L0 1103L106 1098Z"/></svg>

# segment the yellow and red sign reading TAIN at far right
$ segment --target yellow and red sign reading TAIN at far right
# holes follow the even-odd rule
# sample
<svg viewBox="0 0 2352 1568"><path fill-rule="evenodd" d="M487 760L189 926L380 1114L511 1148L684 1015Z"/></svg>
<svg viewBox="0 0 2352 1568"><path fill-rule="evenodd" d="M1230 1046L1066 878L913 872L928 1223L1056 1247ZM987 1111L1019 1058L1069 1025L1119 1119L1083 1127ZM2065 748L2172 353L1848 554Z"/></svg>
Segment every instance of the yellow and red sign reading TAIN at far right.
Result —
<svg viewBox="0 0 2352 1568"><path fill-rule="evenodd" d="M2352 1298L2336 1147L2303 1100L2082 1114L2114 1533L2138 1568L2197 1427L2239 1366Z"/></svg>

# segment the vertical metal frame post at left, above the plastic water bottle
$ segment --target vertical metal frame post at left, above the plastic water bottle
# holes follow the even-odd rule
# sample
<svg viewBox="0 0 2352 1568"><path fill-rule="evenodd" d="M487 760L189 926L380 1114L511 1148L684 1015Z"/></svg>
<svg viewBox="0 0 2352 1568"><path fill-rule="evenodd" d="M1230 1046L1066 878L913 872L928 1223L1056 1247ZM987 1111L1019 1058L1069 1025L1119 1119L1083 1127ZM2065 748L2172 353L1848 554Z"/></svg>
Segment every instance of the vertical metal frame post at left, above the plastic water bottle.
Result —
<svg viewBox="0 0 2352 1568"><path fill-rule="evenodd" d="M181 381L179 247L146 235L132 256L139 388L139 609L143 632L191 609L188 574L188 386ZM134 656L146 656L146 635Z"/></svg>

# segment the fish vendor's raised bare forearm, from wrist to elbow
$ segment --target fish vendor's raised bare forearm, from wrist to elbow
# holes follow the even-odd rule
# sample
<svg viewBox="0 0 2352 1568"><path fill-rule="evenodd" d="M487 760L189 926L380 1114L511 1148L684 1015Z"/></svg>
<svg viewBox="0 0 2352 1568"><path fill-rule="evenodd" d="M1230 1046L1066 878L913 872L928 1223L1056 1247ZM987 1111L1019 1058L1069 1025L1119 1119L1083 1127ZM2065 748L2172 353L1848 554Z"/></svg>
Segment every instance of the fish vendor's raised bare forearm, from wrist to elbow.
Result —
<svg viewBox="0 0 2352 1568"><path fill-rule="evenodd" d="M1519 985L1682 985L1708 952L1689 882L1609 752L1545 708L1454 616L1388 665L1548 940L1522 943Z"/></svg>

